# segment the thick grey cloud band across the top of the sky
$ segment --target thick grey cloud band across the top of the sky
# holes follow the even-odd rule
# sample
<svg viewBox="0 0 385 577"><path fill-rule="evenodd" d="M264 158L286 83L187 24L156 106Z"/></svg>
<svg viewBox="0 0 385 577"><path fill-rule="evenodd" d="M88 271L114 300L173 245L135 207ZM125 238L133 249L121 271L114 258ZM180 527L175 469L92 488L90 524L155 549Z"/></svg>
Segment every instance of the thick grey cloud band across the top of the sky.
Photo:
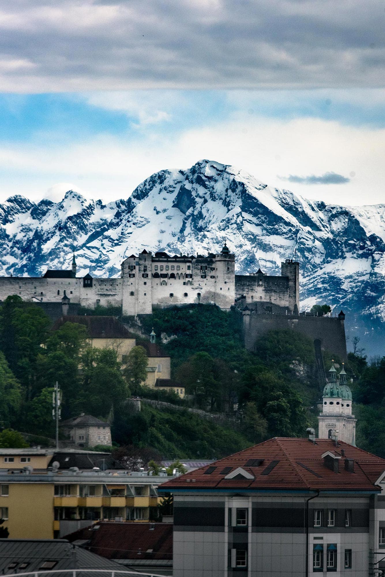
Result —
<svg viewBox="0 0 385 577"><path fill-rule="evenodd" d="M382 87L383 21L382 0L3 2L0 87Z"/></svg>

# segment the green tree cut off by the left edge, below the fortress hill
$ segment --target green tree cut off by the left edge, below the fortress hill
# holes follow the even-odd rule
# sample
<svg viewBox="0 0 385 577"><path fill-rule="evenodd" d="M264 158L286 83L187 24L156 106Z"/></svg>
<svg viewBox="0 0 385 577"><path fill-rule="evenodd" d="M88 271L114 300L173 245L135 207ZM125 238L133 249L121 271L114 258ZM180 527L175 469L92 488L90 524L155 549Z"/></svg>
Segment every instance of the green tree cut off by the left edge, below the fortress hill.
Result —
<svg viewBox="0 0 385 577"><path fill-rule="evenodd" d="M14 424L21 402L20 383L14 377L5 356L0 351L0 425Z"/></svg>

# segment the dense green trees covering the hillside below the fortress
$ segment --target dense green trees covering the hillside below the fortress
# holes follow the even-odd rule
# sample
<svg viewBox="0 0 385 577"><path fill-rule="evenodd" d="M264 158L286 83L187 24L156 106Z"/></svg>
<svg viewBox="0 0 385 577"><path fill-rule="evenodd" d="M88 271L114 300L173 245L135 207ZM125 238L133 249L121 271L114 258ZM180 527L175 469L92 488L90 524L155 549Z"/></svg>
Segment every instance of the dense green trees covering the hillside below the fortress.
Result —
<svg viewBox="0 0 385 577"><path fill-rule="evenodd" d="M135 329L133 319L126 321ZM305 436L307 426L316 427L322 391L307 337L271 331L249 353L239 312L214 305L156 309L139 323L142 334L154 328L163 336L172 377L184 385L189 400L142 387L146 358L140 338L122 372L116 350L87 346L83 325L66 323L52 332L41 308L7 298L0 308L0 447L25 442L12 429L54 436L56 380L63 419L85 412L109 420L115 445L152 448L164 458L219 458L272 436ZM325 354L326 370L332 355ZM350 353L346 372L353 378L357 445L385 456L385 358L368 361L364 351ZM126 400L130 395L169 405L160 410L142 403L141 412L133 413ZM191 404L229 418L216 424L189 412Z"/></svg>

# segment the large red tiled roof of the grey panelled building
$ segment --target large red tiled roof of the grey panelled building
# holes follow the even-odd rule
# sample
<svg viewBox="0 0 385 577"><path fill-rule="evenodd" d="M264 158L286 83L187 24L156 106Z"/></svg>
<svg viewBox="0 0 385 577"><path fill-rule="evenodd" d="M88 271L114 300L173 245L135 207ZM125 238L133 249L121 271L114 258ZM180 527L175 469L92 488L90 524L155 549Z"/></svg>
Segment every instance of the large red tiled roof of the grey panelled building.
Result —
<svg viewBox="0 0 385 577"><path fill-rule="evenodd" d="M331 451L341 456L339 473L328 469L321 455ZM344 452L344 454L342 454ZM344 459L354 460L354 473L345 470ZM241 467L252 474L252 479L241 475L227 479L227 475ZM331 439L269 439L244 451L235 453L172 479L162 490L188 488L204 489L294 489L294 490L379 490L375 482L385 471L385 460L348 443ZM188 484L195 479L194 485Z"/></svg>

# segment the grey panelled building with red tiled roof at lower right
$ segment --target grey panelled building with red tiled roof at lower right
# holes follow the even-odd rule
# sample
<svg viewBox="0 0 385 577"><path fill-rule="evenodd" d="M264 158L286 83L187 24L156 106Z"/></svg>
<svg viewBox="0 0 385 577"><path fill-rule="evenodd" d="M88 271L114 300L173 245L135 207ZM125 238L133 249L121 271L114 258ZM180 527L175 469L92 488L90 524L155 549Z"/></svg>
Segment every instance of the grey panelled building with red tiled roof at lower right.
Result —
<svg viewBox="0 0 385 577"><path fill-rule="evenodd" d="M172 479L160 491L174 497L173 575L378 575L384 471L384 459L311 434Z"/></svg>

